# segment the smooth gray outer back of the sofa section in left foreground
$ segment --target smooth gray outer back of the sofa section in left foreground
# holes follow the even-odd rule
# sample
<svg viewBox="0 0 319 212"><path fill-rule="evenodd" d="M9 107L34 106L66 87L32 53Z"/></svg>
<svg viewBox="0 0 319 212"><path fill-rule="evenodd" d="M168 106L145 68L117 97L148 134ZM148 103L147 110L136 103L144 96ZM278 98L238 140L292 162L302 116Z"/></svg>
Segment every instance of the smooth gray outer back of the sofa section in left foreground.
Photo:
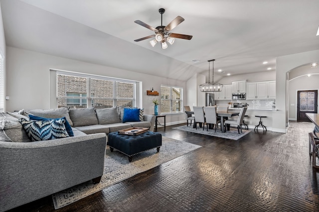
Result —
<svg viewBox="0 0 319 212"><path fill-rule="evenodd" d="M102 176L106 141L104 133L49 141L0 141L0 209L6 211Z"/></svg>

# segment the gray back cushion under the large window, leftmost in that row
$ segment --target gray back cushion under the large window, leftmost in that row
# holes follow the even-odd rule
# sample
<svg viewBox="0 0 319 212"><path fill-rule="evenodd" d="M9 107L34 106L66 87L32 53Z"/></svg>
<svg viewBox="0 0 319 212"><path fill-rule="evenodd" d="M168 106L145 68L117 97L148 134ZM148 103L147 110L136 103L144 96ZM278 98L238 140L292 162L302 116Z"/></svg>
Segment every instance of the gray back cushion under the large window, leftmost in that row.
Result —
<svg viewBox="0 0 319 212"><path fill-rule="evenodd" d="M73 122L72 127L81 127L87 125L99 124L98 118L95 115L95 108L71 109L69 111L70 118Z"/></svg>

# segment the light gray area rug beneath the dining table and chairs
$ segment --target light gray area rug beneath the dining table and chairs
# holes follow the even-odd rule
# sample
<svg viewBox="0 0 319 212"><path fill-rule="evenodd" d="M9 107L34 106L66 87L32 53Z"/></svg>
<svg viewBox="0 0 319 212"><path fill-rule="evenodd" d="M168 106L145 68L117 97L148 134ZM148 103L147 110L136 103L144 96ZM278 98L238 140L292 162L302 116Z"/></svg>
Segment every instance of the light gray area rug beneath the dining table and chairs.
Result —
<svg viewBox="0 0 319 212"><path fill-rule="evenodd" d="M251 132L251 130L243 130L242 134L238 134L237 128L230 128L230 131L226 131L226 133L222 133L220 129L217 129L215 133L215 129L208 129L208 131L206 131L206 127L205 127L205 130L203 130L202 128L197 128L196 130L195 128L187 127L186 125L174 127L172 129L187 131L191 133L198 133L198 134L203 134L207 136L214 136L214 137L223 138L223 139L231 139L231 140L238 140Z"/></svg>

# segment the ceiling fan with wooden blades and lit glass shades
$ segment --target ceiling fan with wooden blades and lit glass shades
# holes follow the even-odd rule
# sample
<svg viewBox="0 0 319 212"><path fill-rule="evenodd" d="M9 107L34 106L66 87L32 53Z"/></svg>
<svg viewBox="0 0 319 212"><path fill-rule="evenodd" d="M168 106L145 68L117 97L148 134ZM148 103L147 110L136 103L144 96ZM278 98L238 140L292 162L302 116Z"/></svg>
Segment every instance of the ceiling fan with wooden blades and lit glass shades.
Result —
<svg viewBox="0 0 319 212"><path fill-rule="evenodd" d="M154 28L153 26L150 26L149 24L144 23L143 21L140 20L136 20L134 21L137 24L140 24L141 26L144 26L148 29L151 29L152 31L155 32L155 35L149 35L147 37L144 38L140 38L137 40L134 40L136 42L139 41L143 41L149 38L154 38L154 40L150 41L151 45L154 47L157 42L161 42L161 48L162 49L166 49L167 48L167 43L169 44L173 44L174 43L174 38L180 38L180 39L186 39L186 40L190 40L193 36L192 35L183 35L183 34L177 34L177 33L169 33L170 30L172 30L173 28L175 28L178 24L180 24L181 22L183 22L185 19L177 16L176 18L174 18L167 26L163 26L163 13L165 12L165 9L160 8L159 9L160 15L161 15L161 22L160 22L160 26Z"/></svg>

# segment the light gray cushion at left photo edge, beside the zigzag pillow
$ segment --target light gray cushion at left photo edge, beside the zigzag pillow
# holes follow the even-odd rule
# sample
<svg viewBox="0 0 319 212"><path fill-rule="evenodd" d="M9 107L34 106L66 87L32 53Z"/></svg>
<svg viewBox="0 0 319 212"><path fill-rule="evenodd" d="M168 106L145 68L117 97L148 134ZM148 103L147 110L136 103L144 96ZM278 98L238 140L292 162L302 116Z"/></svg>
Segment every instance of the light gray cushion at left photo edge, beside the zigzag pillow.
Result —
<svg viewBox="0 0 319 212"><path fill-rule="evenodd" d="M17 118L7 113L0 113L0 123L0 129L2 131L0 141L8 141L8 139L13 142L31 141Z"/></svg>

